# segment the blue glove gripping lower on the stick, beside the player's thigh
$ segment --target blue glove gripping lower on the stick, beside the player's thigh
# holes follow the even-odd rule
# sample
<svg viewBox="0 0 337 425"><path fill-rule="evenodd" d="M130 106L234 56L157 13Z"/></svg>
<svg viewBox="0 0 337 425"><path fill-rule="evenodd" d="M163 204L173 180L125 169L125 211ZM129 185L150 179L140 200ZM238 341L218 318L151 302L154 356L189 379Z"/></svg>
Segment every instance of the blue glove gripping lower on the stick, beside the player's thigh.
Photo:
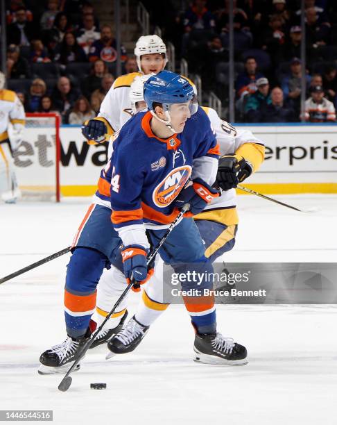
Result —
<svg viewBox="0 0 337 425"><path fill-rule="evenodd" d="M123 269L126 281L130 283L132 277L136 284L132 290L139 292L139 285L145 283L148 276L148 266L146 265L146 249L141 245L128 245L121 251L123 258Z"/></svg>

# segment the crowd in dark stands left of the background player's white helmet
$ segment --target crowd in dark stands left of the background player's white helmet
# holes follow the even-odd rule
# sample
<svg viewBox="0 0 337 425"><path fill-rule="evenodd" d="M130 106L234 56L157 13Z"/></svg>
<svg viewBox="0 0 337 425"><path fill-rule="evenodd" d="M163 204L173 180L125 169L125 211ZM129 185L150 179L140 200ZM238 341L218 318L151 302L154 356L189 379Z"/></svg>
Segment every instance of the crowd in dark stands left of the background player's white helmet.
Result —
<svg viewBox="0 0 337 425"><path fill-rule="evenodd" d="M6 22L8 88L26 112L59 113L66 124L94 117L114 82L117 52L92 3L10 0ZM138 70L123 45L121 60L123 72Z"/></svg>

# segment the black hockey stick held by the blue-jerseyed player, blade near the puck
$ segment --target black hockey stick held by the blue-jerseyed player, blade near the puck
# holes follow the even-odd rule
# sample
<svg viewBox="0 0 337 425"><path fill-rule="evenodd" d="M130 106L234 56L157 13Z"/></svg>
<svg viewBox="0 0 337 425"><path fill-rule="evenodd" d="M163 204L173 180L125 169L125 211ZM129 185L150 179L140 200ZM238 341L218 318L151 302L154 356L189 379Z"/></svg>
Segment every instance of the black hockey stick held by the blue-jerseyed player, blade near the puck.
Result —
<svg viewBox="0 0 337 425"><path fill-rule="evenodd" d="M189 204L186 204L185 206L182 207L182 210L177 215L177 217L175 218L175 220L170 224L170 226L168 227L165 235L162 237L162 239L157 244L157 247L155 247L155 249L153 249L153 251L148 254L148 258L146 260L146 264L147 265L149 265L151 263L151 261L153 260L153 258L155 258L155 256L157 255L157 252L159 251L160 247L162 247L162 244L164 244L165 240L168 238L168 235L171 233L171 231L173 231L173 228L175 228L175 226L177 226L177 224L180 222L180 219L182 219L182 216L184 215L184 213L186 213L188 210L189 210ZM80 350L78 351L78 353L76 353L74 363L71 365L71 367L69 367L69 370L68 370L67 374L64 375L62 381L58 385L58 389L60 391L67 391L69 389L69 387L71 385L71 381L72 381L72 378L70 376L71 372L73 372L73 370L75 369L75 367L78 365L80 359L85 356L85 353L92 346L92 343L94 342L94 339L96 338L96 336L98 335L98 333L101 332L101 330L103 329L103 326L110 319L110 317L114 314L116 308L123 301L123 299L126 297L126 295L128 294L128 292L130 292L130 290L131 290L132 286L134 285L134 283L135 283L135 279L132 278L132 281L128 284L128 286L126 287L126 289L123 291L123 293L121 294L121 297L119 297L119 299L117 299L116 303L112 307L112 310L107 315L107 317L105 317L105 319L104 319L103 323L101 324L101 326L99 326L96 329L96 332L94 334L92 334L92 338L90 338L85 344L83 344L83 346L80 348Z"/></svg>

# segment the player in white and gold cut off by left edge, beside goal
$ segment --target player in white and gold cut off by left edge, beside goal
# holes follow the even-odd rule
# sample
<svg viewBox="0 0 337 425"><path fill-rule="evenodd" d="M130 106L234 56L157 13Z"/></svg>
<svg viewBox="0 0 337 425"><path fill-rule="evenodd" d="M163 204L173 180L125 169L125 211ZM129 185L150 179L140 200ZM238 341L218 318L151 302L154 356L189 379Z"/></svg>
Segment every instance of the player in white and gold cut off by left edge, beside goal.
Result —
<svg viewBox="0 0 337 425"><path fill-rule="evenodd" d="M5 75L0 72L0 199L15 203L20 195L12 164L12 153L22 141L25 124L24 106L12 90L4 88ZM12 124L12 133L8 129Z"/></svg>

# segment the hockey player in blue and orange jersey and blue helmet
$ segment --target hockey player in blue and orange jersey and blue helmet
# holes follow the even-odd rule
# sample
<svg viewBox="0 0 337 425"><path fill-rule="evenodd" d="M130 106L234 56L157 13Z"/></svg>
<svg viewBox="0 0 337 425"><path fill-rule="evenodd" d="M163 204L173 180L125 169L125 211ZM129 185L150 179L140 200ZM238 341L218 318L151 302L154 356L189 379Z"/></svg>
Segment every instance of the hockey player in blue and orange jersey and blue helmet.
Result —
<svg viewBox="0 0 337 425"><path fill-rule="evenodd" d="M121 244L126 278L134 276L142 283L148 275L146 229L156 245L179 208L189 203L191 214L197 214L218 196L211 187L218 169L218 145L207 115L193 102L191 85L178 74L163 71L146 82L144 97L150 110L132 117L116 135L114 154L101 172L94 206L76 236L64 294L68 337L42 353L42 373L69 367L78 347L89 338L96 285L104 267L115 261ZM202 265L205 272L212 270L198 228L188 217L172 231L159 253L179 272L186 272L191 263L194 268ZM185 289L193 286L196 283L190 282ZM210 286L202 281L198 289ZM184 301L189 303L189 297ZM214 297L204 297L198 315L191 320L205 356L213 357L214 363L246 363L245 347L231 344L228 349L227 340L216 333ZM211 350L214 344L217 354Z"/></svg>

